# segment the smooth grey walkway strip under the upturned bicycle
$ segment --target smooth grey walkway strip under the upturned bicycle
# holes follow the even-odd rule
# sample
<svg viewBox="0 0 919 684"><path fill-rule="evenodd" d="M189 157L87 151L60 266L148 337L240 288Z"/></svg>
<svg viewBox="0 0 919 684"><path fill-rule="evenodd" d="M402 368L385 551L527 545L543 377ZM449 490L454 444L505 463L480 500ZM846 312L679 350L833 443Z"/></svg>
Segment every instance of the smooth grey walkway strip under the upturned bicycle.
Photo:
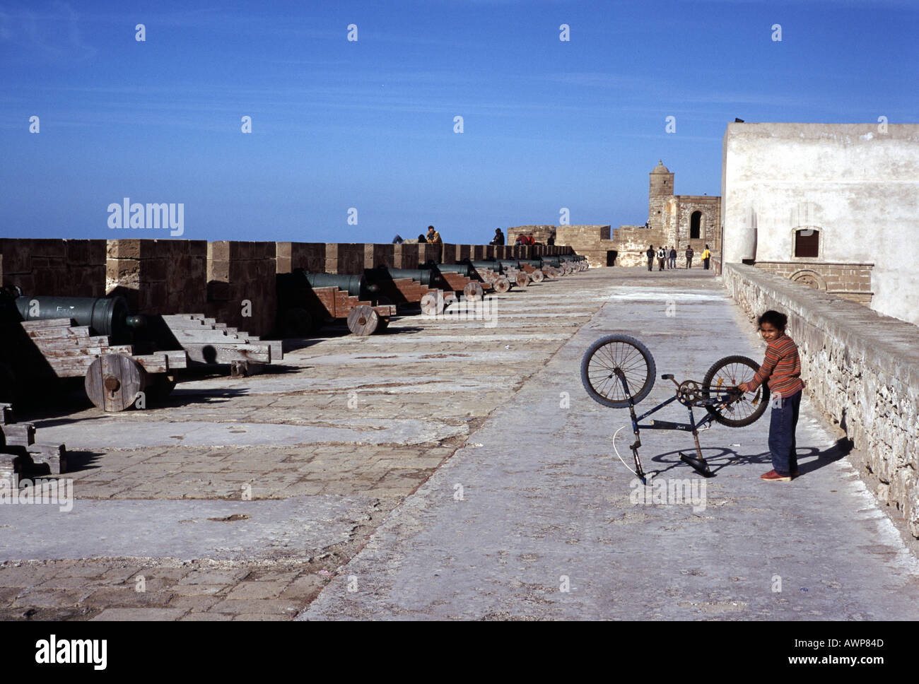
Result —
<svg viewBox="0 0 919 684"><path fill-rule="evenodd" d="M654 280L652 280L654 278ZM298 619L914 620L919 563L845 459L845 442L801 405L801 477L767 483L767 416L702 432L717 477L704 496L635 499L612 438L629 414L581 387L596 338L622 332L652 351L641 407L765 344L702 272L591 271L608 295L468 442L373 533ZM668 315L670 314L670 315ZM790 331L792 337L794 331ZM568 401L565 401L568 398ZM671 406L655 418L685 420ZM683 432L641 433L652 482L699 477ZM629 463L630 431L615 447ZM653 486L652 486L653 491Z"/></svg>

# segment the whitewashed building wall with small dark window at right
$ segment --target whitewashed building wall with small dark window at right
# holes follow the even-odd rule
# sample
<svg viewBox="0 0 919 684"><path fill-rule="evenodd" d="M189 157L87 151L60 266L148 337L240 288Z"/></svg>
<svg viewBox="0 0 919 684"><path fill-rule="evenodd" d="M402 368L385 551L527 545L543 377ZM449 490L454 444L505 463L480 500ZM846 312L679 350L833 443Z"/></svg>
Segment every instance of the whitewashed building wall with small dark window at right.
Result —
<svg viewBox="0 0 919 684"><path fill-rule="evenodd" d="M732 123L724 134L724 261L755 228L755 258L795 261L793 228L820 260L873 263L871 308L919 325L919 125Z"/></svg>

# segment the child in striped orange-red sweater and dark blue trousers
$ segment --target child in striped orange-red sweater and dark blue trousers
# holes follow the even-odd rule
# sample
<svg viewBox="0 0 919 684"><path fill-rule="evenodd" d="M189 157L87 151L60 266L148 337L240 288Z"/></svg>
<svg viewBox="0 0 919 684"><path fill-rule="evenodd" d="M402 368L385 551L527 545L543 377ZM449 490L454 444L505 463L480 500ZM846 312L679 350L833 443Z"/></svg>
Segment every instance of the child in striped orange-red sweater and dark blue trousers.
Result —
<svg viewBox="0 0 919 684"><path fill-rule="evenodd" d="M798 477L798 455L795 453L795 428L801 403L801 362L798 345L785 334L788 316L766 311L759 317L760 334L768 342L766 360L750 382L738 385L743 392L753 392L769 381L772 392L772 420L769 422L769 451L772 470L760 477L770 482L788 482Z"/></svg>

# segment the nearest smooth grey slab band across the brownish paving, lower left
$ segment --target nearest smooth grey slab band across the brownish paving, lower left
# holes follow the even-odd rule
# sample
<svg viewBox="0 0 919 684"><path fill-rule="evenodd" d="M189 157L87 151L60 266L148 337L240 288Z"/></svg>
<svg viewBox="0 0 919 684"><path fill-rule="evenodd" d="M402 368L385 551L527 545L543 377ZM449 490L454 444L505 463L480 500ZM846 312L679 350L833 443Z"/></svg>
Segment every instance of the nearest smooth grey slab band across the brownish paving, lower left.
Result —
<svg viewBox="0 0 919 684"><path fill-rule="evenodd" d="M306 558L349 539L376 503L317 495L260 501L76 499L68 512L49 504L5 506L0 561ZM231 516L248 517L225 520Z"/></svg>

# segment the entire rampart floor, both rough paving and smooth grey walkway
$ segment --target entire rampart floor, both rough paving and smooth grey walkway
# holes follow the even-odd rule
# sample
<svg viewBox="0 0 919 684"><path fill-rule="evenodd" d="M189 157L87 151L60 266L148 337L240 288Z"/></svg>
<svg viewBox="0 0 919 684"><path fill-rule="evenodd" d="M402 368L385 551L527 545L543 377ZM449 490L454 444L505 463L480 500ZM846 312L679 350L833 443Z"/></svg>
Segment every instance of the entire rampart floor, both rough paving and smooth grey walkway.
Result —
<svg viewBox="0 0 919 684"><path fill-rule="evenodd" d="M0 619L919 614L913 557L807 402L800 479L758 479L764 419L702 432L704 509L630 502L611 448L628 412L586 397L581 355L626 331L658 374L758 359L710 272L596 269L496 301L494 327L403 317L289 341L265 375L198 376L146 410L77 393L19 416L67 444L76 500L0 507ZM646 469L697 480L686 437L642 432Z"/></svg>

